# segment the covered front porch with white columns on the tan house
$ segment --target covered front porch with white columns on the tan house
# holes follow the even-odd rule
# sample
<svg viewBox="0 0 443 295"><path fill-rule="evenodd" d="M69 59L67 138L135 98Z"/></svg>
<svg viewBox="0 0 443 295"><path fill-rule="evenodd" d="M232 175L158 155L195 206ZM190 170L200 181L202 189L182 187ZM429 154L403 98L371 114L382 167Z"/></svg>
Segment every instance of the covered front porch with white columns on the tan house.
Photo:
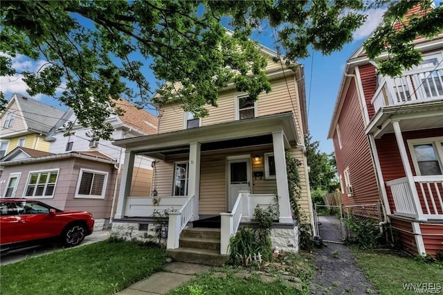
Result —
<svg viewBox="0 0 443 295"><path fill-rule="evenodd" d="M297 141L291 113L116 141L126 154L114 220L168 211L166 246L177 249L189 224L218 215L224 255L256 206L278 204L276 223L294 227L285 151L301 150ZM156 159L145 197L129 195L135 155Z"/></svg>

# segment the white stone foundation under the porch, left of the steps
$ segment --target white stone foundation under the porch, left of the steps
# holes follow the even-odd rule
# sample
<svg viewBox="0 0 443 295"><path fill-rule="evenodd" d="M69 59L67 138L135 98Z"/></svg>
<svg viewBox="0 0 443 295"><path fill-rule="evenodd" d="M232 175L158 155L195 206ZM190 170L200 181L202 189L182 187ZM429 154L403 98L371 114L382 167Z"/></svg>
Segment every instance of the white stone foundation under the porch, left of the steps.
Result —
<svg viewBox="0 0 443 295"><path fill-rule="evenodd" d="M113 222L111 237L127 241L154 242L166 246L166 239L159 238L158 224L138 224L132 222Z"/></svg>

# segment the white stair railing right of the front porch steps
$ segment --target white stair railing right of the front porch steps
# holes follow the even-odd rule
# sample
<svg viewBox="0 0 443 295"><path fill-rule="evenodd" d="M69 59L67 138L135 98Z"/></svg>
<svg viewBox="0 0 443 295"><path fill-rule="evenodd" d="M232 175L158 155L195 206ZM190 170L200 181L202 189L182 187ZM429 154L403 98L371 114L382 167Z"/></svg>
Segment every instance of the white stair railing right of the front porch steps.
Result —
<svg viewBox="0 0 443 295"><path fill-rule="evenodd" d="M220 213L220 254L228 255L230 237L237 233L240 222L251 221L256 206L267 208L272 204L275 204L275 195L273 194L252 195L248 191L239 191L233 211Z"/></svg>

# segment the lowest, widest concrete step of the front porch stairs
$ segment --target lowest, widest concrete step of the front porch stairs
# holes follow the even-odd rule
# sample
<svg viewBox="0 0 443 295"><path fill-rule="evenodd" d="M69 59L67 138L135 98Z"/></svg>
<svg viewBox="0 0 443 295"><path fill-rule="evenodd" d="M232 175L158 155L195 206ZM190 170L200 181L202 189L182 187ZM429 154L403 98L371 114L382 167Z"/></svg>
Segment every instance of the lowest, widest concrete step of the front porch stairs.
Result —
<svg viewBox="0 0 443 295"><path fill-rule="evenodd" d="M168 249L166 250L166 256L169 256L175 261L215 266L221 266L229 259L228 256L221 255L217 250L185 247L180 247L179 249Z"/></svg>

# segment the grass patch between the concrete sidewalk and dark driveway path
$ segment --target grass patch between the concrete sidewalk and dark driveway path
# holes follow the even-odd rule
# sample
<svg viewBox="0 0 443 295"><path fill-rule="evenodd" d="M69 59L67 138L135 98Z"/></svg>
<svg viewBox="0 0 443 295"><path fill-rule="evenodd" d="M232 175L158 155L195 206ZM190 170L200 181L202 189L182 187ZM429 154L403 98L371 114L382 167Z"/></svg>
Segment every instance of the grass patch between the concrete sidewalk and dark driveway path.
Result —
<svg viewBox="0 0 443 295"><path fill-rule="evenodd" d="M283 272L289 272L300 278L299 288L288 285L284 280L265 283L260 278L262 274L253 274L248 278L237 278L235 273L239 269L234 268L224 269L226 276L217 276L211 271L197 276L194 280L172 290L168 295L311 294L311 280L314 277L313 256L307 253L288 254L279 260L278 263L271 263L267 267L269 274L279 276ZM280 262L282 263L280 264ZM262 272L264 268L262 267Z"/></svg>

